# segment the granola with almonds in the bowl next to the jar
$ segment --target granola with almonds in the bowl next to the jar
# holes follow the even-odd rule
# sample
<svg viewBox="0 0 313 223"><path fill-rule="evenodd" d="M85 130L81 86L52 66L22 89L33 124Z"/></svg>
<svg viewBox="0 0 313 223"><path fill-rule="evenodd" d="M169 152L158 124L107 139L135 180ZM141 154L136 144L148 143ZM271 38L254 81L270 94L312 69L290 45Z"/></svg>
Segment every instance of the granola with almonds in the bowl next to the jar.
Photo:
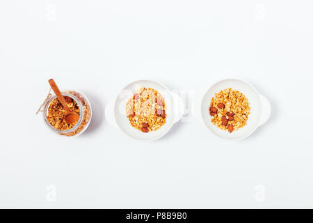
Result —
<svg viewBox="0 0 313 223"><path fill-rule="evenodd" d="M166 123L166 104L161 93L142 87L128 100L126 114L131 126L147 133Z"/></svg>

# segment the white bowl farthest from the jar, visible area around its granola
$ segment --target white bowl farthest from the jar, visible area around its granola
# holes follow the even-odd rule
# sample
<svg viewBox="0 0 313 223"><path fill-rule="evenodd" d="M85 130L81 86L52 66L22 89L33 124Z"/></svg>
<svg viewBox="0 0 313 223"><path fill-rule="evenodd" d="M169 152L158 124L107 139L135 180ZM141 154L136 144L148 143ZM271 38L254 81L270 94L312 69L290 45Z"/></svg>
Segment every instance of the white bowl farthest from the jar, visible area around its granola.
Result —
<svg viewBox="0 0 313 223"><path fill-rule="evenodd" d="M211 116L209 115L211 99L214 97L215 93L228 88L232 88L243 93L243 95L248 98L251 108L251 114L248 116L247 125L232 133L220 130L220 128L216 127L216 125L211 123ZM211 130L211 132L216 134L218 137L223 139L245 139L252 134L252 132L254 132L259 125L268 121L268 118L271 116L271 105L268 100L263 95L260 95L251 84L243 82L239 79L225 79L211 86L207 93L205 93L202 99L201 115L204 124L207 125L207 128L209 128L209 130Z"/></svg>

